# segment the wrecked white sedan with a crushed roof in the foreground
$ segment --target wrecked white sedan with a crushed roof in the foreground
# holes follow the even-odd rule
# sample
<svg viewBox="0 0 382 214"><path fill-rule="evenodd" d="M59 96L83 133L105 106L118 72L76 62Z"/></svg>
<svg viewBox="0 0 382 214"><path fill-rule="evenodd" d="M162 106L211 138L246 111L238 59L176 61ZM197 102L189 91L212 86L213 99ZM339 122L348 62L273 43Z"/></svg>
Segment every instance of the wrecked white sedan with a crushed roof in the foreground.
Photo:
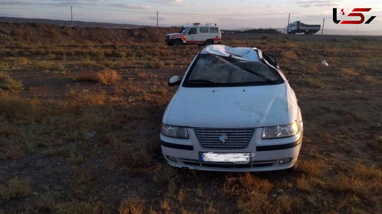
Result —
<svg viewBox="0 0 382 214"><path fill-rule="evenodd" d="M193 59L162 119L168 164L208 171L296 167L303 120L277 62L256 48L204 47Z"/></svg>

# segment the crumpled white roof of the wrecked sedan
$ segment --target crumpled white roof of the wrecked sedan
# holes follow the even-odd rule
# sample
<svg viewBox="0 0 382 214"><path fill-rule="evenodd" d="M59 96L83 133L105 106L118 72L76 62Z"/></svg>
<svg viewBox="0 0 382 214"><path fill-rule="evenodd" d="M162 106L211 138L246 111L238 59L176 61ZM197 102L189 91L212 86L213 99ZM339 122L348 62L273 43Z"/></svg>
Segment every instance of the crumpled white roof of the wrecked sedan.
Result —
<svg viewBox="0 0 382 214"><path fill-rule="evenodd" d="M219 56L229 57L232 55L235 59L241 59L245 61L259 61L259 54L257 54L256 48L231 48L225 45L209 45L206 46L201 54L215 54Z"/></svg>

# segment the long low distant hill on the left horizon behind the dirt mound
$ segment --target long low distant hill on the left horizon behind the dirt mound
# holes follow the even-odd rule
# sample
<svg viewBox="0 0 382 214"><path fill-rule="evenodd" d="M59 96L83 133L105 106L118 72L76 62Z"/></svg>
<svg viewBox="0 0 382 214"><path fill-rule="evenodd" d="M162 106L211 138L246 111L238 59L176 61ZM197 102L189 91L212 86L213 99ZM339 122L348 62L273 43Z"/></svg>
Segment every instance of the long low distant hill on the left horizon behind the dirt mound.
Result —
<svg viewBox="0 0 382 214"><path fill-rule="evenodd" d="M70 27L71 21L55 20L55 19L29 19L29 18L15 18L15 17L0 17L0 22L14 22L14 23L40 23L40 24L54 24L56 26ZM147 27L135 24L116 24L104 22L83 22L74 21L76 27L103 27L103 28L119 28L119 29L133 29Z"/></svg>

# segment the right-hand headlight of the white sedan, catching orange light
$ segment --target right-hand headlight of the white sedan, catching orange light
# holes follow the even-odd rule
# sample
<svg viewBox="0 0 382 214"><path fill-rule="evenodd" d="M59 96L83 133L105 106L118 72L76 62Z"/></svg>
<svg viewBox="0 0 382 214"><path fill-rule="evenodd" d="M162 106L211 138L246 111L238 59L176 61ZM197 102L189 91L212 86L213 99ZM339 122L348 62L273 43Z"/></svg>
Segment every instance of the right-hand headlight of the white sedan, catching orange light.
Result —
<svg viewBox="0 0 382 214"><path fill-rule="evenodd" d="M278 138L278 137L290 137L298 133L298 123L295 121L292 124L282 126L268 126L264 127L262 138Z"/></svg>

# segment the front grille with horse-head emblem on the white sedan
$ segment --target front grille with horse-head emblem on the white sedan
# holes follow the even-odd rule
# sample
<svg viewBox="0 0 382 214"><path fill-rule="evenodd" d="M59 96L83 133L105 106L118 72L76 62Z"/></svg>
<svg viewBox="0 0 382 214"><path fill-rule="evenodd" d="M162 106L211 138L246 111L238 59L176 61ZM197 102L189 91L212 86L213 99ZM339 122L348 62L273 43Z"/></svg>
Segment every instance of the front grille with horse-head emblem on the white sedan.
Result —
<svg viewBox="0 0 382 214"><path fill-rule="evenodd" d="M199 143L206 149L244 149L247 147L253 131L253 128L195 128Z"/></svg>

